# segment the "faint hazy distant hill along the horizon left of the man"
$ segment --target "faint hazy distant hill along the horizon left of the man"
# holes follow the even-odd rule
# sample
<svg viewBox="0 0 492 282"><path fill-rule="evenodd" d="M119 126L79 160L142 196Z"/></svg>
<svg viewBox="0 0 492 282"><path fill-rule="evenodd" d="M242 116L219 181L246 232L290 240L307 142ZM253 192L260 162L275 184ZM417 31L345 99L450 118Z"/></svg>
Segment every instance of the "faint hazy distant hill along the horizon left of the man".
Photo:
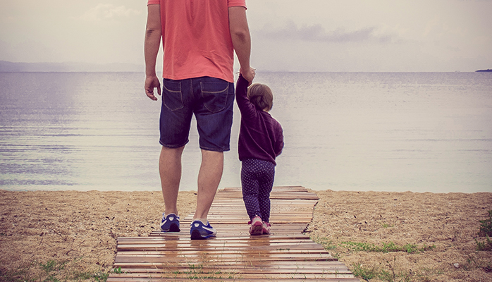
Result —
<svg viewBox="0 0 492 282"><path fill-rule="evenodd" d="M0 61L0 72L143 72L144 66L133 63L15 63Z"/></svg>

